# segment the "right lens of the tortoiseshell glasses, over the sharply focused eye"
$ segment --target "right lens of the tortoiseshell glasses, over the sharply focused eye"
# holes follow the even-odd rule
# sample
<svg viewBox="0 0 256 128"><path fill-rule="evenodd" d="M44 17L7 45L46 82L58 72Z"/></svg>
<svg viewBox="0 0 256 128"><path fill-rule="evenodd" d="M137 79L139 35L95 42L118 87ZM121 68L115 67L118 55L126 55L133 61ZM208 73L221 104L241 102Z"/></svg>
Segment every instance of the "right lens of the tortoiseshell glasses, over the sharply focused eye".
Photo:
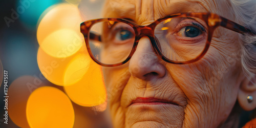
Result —
<svg viewBox="0 0 256 128"><path fill-rule="evenodd" d="M196 17L168 18L155 28L158 48L163 56L173 61L189 61L203 52L207 37L207 24Z"/></svg>

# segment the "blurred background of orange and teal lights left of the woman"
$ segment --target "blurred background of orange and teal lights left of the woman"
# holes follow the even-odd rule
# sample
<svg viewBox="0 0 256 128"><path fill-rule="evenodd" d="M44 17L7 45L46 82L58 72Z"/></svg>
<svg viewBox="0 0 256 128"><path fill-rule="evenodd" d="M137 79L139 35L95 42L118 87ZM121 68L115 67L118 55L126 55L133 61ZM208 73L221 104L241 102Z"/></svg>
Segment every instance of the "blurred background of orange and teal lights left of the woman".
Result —
<svg viewBox="0 0 256 128"><path fill-rule="evenodd" d="M90 60L80 33L80 23L101 17L103 4L1 1L0 127L111 126L101 67Z"/></svg>

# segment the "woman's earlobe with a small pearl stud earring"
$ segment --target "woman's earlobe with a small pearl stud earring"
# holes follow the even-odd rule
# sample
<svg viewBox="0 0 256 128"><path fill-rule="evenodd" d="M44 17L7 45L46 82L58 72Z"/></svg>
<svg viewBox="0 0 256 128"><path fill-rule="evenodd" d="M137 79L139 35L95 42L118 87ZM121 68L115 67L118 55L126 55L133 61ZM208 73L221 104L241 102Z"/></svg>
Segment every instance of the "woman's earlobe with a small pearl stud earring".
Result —
<svg viewBox="0 0 256 128"><path fill-rule="evenodd" d="M240 89L238 91L238 102L242 109L245 111L251 111L256 108L256 77L245 77L241 82ZM247 100L247 96L252 96L252 101Z"/></svg>

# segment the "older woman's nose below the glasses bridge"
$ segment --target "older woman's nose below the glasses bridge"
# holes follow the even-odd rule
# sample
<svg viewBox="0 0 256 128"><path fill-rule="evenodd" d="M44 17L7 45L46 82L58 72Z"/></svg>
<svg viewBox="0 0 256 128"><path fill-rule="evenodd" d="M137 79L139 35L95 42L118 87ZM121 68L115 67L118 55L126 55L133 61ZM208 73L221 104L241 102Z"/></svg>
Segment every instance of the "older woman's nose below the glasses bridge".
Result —
<svg viewBox="0 0 256 128"><path fill-rule="evenodd" d="M150 39L144 36L140 38L137 49L130 60L129 71L133 76L142 80L161 78L165 75L166 69L160 61L162 60L155 53Z"/></svg>

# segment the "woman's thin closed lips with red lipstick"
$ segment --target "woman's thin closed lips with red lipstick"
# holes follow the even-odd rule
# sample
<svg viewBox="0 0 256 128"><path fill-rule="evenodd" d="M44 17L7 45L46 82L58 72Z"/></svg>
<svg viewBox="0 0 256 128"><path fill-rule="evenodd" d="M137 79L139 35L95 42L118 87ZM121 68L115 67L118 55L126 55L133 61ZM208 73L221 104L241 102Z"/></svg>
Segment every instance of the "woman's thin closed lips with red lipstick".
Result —
<svg viewBox="0 0 256 128"><path fill-rule="evenodd" d="M153 97L149 97L149 98L138 97L135 100L133 100L130 105L136 105L136 104L148 104L148 105L174 104L174 105L178 105L177 103L175 103L173 101L168 101L165 99L157 99L157 98L153 98Z"/></svg>

